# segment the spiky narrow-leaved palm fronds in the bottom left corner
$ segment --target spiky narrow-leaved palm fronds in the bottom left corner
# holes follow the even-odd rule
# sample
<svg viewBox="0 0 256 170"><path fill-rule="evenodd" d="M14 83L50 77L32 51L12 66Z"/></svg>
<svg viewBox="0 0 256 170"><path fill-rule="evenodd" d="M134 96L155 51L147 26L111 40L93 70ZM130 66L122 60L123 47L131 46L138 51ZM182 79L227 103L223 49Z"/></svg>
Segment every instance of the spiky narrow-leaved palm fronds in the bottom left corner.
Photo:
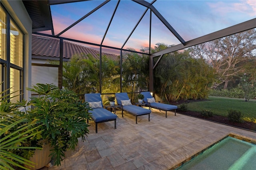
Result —
<svg viewBox="0 0 256 170"><path fill-rule="evenodd" d="M14 114L18 107L16 103L8 102L9 98L8 95L4 95L5 92L0 92L0 169L28 169L23 165L30 165L32 168L35 164L22 155L27 150L42 149L27 144L30 138L41 133L37 130L40 126L31 128L33 124L24 123L27 121L26 118Z"/></svg>

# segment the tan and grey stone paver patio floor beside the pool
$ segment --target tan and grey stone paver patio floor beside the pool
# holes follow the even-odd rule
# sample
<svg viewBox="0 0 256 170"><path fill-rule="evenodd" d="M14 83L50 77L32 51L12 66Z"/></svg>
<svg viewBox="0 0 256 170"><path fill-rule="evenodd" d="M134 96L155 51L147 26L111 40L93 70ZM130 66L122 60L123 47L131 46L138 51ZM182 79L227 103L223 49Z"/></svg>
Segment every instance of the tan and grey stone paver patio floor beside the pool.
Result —
<svg viewBox="0 0 256 170"><path fill-rule="evenodd" d="M89 122L86 141L67 151L61 166L41 170L168 170L229 134L256 142L256 132L178 113L168 112L166 118L152 109L150 121L139 116L138 124L135 116L117 113L116 129L114 121L100 123L95 133L95 123Z"/></svg>

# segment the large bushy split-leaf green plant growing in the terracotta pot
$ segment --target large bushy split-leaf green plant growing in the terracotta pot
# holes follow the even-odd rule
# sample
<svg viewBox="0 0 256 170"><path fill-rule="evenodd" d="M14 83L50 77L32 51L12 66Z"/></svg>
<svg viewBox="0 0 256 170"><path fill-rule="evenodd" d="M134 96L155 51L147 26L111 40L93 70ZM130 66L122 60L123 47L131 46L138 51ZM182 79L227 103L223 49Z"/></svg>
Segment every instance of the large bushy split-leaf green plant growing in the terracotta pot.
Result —
<svg viewBox="0 0 256 170"><path fill-rule="evenodd" d="M23 154L25 158L30 158L33 162L37 159L44 162L42 165L37 165L35 169L46 166L49 162L42 161L44 157L50 157L54 160L54 165L59 166L65 157L64 152L68 149L74 150L78 144L77 138L85 140L85 135L89 133L87 119L90 119L90 107L88 103L82 103L78 95L68 89L58 89L53 84L36 84L28 90L38 94L38 97L31 97L31 101L17 103L16 105L23 106L25 111L15 111L14 113L24 119L23 123L31 125L34 131L40 133L27 138L24 144L30 146L47 145L45 150L50 150L48 156L43 156L42 153L36 155L38 150L27 150ZM31 108L27 108L31 106ZM43 147L43 146L42 146ZM43 147L44 148L44 147ZM38 153L37 153L38 154ZM34 158L38 157L38 158ZM46 163L47 162L47 163ZM35 162L38 163L38 162Z"/></svg>

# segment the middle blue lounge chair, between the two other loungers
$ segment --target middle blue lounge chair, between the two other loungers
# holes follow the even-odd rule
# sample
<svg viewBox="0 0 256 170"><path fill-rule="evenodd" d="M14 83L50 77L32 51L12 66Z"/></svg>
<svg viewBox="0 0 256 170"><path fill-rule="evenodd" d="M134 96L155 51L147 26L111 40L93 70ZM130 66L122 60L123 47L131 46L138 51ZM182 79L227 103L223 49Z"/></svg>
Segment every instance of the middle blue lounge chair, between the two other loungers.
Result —
<svg viewBox="0 0 256 170"><path fill-rule="evenodd" d="M150 121L151 111L149 109L132 105L127 93L116 93L116 101L117 101L117 104L122 109L122 117L124 117L123 111L126 111L127 113L130 113L131 115L136 116L136 124L137 124L137 117L141 115L148 115L148 121Z"/></svg>

